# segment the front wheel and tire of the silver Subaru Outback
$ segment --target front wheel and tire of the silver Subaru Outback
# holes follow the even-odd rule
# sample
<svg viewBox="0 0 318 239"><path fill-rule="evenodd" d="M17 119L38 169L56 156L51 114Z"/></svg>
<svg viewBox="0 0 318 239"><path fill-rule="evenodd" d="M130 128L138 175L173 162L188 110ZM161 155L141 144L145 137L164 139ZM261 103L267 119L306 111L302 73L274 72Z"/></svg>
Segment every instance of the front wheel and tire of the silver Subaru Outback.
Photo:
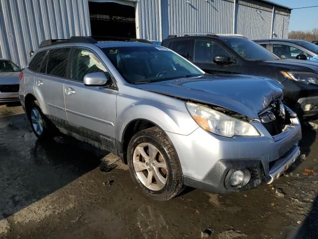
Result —
<svg viewBox="0 0 318 239"><path fill-rule="evenodd" d="M177 153L159 127L136 133L128 144L127 159L133 180L148 197L166 201L183 190Z"/></svg>

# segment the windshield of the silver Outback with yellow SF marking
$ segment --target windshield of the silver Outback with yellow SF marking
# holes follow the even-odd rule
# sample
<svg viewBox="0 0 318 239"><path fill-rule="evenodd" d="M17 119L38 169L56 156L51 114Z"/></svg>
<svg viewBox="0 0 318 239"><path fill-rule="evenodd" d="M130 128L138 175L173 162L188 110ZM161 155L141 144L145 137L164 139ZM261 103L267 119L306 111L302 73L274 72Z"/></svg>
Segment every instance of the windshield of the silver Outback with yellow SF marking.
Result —
<svg viewBox="0 0 318 239"><path fill-rule="evenodd" d="M145 83L200 76L204 72L164 47L128 46L103 48L129 83Z"/></svg>

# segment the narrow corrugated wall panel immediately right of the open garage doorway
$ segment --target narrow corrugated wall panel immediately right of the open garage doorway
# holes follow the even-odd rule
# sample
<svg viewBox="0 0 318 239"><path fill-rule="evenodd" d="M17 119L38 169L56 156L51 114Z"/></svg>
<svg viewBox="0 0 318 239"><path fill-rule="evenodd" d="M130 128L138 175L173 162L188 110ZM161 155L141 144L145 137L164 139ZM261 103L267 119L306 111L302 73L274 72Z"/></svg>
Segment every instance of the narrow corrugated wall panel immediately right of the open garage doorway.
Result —
<svg viewBox="0 0 318 239"><path fill-rule="evenodd" d="M161 40L160 0L139 0L136 4L139 37L156 41Z"/></svg>

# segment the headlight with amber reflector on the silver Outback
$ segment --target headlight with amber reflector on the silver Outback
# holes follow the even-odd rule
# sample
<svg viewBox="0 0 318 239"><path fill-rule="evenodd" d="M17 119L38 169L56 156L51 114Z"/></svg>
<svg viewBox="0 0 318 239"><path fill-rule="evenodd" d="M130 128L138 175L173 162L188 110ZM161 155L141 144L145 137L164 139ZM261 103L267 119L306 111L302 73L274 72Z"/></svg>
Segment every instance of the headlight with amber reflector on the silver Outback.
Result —
<svg viewBox="0 0 318 239"><path fill-rule="evenodd" d="M192 118L202 128L225 137L260 136L257 129L249 122L230 117L208 107L186 103Z"/></svg>

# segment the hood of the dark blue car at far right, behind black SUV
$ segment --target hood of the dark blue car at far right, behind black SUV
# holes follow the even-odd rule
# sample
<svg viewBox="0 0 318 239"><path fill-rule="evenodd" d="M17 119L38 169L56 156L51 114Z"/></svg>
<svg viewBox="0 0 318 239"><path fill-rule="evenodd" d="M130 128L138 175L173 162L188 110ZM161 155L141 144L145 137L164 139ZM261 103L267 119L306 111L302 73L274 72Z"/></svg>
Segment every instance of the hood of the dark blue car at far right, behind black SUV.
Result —
<svg viewBox="0 0 318 239"><path fill-rule="evenodd" d="M276 60L276 61L263 61L262 65L282 67L289 71L305 71L305 72L316 72L318 73L318 64L314 61L304 60Z"/></svg>

